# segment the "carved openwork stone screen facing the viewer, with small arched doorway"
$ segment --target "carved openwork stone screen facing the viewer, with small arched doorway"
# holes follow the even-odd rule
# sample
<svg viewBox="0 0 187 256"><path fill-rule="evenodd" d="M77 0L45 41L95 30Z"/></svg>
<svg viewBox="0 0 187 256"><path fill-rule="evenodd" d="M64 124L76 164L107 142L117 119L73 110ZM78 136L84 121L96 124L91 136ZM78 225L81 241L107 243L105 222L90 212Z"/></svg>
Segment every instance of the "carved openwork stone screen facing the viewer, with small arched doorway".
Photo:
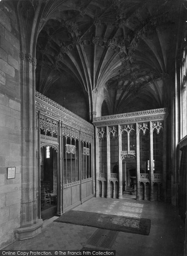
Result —
<svg viewBox="0 0 187 256"><path fill-rule="evenodd" d="M167 112L165 108L153 109L149 111L138 111L124 114L117 114L111 116L101 116L94 118L94 125L96 127L96 197L113 197L122 198L122 160L126 163L129 159L134 159L136 162L136 199L140 199L140 186L144 186L143 199L145 199L146 185L150 186L149 200L154 200L154 184L158 186L158 198L160 198L160 187L164 186L166 177L166 160L163 154L162 171L154 173L154 159L153 159L153 132L159 134L163 131L163 152L166 150L166 122ZM130 150L130 133L134 130L136 132L136 150ZM149 171L140 173L140 131L143 134L149 133ZM122 151L122 134L127 132L127 150ZM111 166L111 138L116 137L117 145L117 165L118 172L112 173ZM101 152L99 152L99 142L102 138L106 138L106 171L100 167L99 159ZM100 168L99 168L100 167ZM126 172L126 170L125 170ZM126 175L126 173L125 173ZM101 185L102 189L99 188ZM112 184L112 186L111 186ZM111 191L113 189L113 191ZM101 191L99 191L101 190Z"/></svg>

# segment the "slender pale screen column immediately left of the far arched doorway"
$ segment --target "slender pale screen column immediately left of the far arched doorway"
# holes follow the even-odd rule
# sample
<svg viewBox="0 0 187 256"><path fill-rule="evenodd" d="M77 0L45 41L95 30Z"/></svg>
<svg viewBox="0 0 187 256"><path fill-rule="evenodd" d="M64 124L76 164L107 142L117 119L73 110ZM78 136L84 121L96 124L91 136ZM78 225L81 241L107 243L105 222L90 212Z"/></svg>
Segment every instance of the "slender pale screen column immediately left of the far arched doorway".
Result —
<svg viewBox="0 0 187 256"><path fill-rule="evenodd" d="M122 133L121 133L120 125L118 125L119 198L122 198L122 196L123 196L121 151L122 151Z"/></svg>

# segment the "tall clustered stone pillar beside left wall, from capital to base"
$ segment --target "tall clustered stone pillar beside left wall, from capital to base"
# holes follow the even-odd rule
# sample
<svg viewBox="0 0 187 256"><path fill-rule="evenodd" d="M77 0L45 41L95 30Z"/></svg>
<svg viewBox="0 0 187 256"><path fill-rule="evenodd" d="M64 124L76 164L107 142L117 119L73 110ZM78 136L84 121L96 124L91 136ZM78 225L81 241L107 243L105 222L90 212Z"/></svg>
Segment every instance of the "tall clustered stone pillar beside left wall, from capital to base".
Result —
<svg viewBox="0 0 187 256"><path fill-rule="evenodd" d="M36 59L30 53L21 52L21 216L20 228L16 230L19 240L36 236L41 232L42 219L37 216L36 189L36 108L35 68Z"/></svg>

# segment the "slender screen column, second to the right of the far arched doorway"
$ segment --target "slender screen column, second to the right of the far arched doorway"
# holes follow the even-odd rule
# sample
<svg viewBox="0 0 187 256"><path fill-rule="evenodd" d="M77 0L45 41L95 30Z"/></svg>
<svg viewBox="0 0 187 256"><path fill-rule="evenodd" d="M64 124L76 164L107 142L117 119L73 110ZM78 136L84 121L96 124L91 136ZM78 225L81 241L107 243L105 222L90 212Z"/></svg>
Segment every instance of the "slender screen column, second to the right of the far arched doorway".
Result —
<svg viewBox="0 0 187 256"><path fill-rule="evenodd" d="M153 201L153 125L150 121L150 201Z"/></svg>

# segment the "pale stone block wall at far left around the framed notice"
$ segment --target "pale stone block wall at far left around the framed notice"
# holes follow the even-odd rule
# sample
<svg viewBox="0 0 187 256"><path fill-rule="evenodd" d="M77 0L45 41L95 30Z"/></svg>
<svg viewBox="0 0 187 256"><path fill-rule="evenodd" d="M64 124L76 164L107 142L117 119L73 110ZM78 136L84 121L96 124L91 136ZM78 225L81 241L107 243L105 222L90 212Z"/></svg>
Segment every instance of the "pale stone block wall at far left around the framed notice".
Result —
<svg viewBox="0 0 187 256"><path fill-rule="evenodd" d="M14 6L0 2L0 248L20 227L20 41ZM7 179L7 167L16 167Z"/></svg>

